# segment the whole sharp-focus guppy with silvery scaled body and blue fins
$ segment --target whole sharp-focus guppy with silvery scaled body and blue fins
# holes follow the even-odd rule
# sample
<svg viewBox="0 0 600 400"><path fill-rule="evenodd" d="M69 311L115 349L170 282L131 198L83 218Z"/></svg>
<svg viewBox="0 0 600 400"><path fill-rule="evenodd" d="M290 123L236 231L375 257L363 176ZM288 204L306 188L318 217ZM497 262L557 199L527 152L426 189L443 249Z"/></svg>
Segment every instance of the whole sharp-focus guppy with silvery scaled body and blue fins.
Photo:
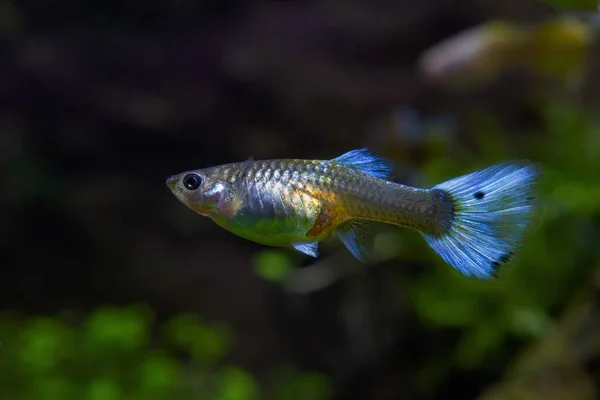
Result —
<svg viewBox="0 0 600 400"><path fill-rule="evenodd" d="M497 276L520 247L534 211L538 168L496 164L420 189L386 178L392 165L368 149L331 160L265 160L186 171L167 186L187 207L251 241L312 257L337 236L369 256L367 224L415 229L465 276Z"/></svg>

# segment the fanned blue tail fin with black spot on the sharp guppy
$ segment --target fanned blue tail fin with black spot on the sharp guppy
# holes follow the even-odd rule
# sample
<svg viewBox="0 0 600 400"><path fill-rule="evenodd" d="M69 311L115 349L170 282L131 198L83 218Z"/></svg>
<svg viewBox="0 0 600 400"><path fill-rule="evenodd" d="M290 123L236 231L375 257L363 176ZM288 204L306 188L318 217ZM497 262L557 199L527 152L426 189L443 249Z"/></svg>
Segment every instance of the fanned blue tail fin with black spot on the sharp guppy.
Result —
<svg viewBox="0 0 600 400"><path fill-rule="evenodd" d="M534 164L509 162L434 186L452 197L454 213L444 234L425 240L463 275L497 276L530 225L539 176Z"/></svg>

